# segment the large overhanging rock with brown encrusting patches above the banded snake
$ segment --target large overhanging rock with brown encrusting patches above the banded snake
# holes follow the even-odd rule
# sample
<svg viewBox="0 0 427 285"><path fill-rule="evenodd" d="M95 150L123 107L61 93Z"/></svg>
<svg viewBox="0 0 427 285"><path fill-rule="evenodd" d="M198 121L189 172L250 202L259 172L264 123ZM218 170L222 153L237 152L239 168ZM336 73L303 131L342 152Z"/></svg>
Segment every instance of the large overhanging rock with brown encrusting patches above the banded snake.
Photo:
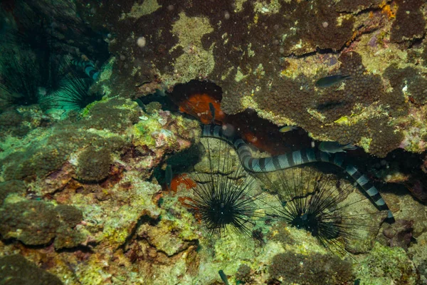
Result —
<svg viewBox="0 0 427 285"><path fill-rule="evenodd" d="M94 29L109 26L115 34L110 51L116 59L105 82L113 92L135 98L193 79L214 81L223 90L221 109L228 114L253 108L260 117L298 125L317 140L352 142L385 157L398 147L426 148L401 144L411 138L407 131L415 124L408 110L418 112L426 88L409 84L408 93L415 94L411 102L384 72L410 53L400 43L423 35L421 2L219 1L204 6L159 1L142 13L132 1L119 9L90 1L90 11L78 1L78 9ZM168 15L167 20L158 15ZM412 20L419 24L417 31ZM404 80L425 81L416 64L405 68L419 74L406 74ZM352 79L325 90L315 87L319 78L337 74Z"/></svg>

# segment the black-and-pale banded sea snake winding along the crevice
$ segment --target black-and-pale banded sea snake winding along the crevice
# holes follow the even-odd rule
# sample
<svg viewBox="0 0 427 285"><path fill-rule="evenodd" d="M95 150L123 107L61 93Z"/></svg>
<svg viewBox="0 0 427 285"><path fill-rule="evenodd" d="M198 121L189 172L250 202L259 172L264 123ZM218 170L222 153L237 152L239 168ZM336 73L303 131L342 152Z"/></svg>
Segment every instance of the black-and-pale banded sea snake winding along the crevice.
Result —
<svg viewBox="0 0 427 285"><path fill-rule="evenodd" d="M342 152L327 153L312 147L273 157L255 158L252 156L251 150L244 140L234 133L230 134L227 131L224 132L223 126L221 125L203 125L202 137L225 140L233 145L243 167L249 172L273 172L310 162L329 162L337 165L353 177L357 184L369 195L378 209L387 211L389 221L394 221L389 206L387 206L378 190L376 190L376 187L366 175L363 175L357 170L357 167L344 160Z"/></svg>

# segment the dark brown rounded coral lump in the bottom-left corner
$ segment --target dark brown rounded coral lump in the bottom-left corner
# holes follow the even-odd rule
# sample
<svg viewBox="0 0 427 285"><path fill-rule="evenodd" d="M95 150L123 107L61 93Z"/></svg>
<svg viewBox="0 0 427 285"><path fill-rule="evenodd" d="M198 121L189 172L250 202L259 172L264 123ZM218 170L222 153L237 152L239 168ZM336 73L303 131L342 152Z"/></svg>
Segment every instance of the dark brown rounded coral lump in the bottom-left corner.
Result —
<svg viewBox="0 0 427 285"><path fill-rule="evenodd" d="M20 254L0 257L0 283L21 285L61 285L57 276L40 269Z"/></svg>

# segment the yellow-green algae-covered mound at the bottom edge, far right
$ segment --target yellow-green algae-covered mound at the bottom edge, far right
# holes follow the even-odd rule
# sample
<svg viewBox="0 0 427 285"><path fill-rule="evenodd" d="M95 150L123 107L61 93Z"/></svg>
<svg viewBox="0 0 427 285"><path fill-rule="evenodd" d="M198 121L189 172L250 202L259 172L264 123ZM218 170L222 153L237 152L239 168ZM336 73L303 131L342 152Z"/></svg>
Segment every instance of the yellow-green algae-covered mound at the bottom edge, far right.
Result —
<svg viewBox="0 0 427 285"><path fill-rule="evenodd" d="M378 242L359 263L356 276L360 284L417 284L418 281L416 268L404 249Z"/></svg>

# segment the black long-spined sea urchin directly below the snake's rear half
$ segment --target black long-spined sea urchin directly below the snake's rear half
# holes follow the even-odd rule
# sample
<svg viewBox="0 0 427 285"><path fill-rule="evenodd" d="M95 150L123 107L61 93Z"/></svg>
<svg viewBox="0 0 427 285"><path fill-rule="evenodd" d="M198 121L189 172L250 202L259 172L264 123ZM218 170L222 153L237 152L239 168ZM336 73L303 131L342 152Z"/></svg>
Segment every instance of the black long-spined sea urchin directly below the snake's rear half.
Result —
<svg viewBox="0 0 427 285"><path fill-rule="evenodd" d="M381 223L379 212L365 203L368 198L334 175L296 168L268 181L280 202L270 217L305 229L330 252L347 254L347 245L352 248L357 239L378 229L375 222Z"/></svg>

